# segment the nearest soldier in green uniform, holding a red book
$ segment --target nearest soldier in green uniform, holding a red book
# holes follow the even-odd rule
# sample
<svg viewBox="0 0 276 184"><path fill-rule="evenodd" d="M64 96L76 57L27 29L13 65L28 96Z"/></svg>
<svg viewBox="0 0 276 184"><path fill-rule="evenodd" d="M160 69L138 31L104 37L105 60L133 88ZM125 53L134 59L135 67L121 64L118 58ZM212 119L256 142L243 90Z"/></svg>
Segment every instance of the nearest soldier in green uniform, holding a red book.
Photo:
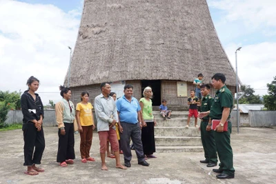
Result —
<svg viewBox="0 0 276 184"><path fill-rule="evenodd" d="M225 81L226 77L221 73L217 73L212 77L213 86L217 92L209 114L210 120L220 120L219 125L215 127L214 131L220 164L218 170L213 169L213 172L219 173L217 175L217 178L219 179L235 177L235 169L233 167L233 150L230 145L232 123L229 121L230 112L233 108L233 95L226 87ZM226 121L228 121L228 131L224 132L224 123Z"/></svg>

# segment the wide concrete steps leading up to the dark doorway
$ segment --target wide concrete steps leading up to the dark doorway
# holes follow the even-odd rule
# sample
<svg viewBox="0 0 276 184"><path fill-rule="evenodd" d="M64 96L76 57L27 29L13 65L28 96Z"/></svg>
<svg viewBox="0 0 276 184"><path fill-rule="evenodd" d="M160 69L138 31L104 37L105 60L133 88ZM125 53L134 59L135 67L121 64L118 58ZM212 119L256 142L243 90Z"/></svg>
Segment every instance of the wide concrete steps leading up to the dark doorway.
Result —
<svg viewBox="0 0 276 184"><path fill-rule="evenodd" d="M171 118L164 120L158 111L154 111L157 126L155 127L155 145L157 152L202 152L199 129L194 127L191 119L186 128L188 112L173 111ZM198 120L198 123L200 120Z"/></svg>

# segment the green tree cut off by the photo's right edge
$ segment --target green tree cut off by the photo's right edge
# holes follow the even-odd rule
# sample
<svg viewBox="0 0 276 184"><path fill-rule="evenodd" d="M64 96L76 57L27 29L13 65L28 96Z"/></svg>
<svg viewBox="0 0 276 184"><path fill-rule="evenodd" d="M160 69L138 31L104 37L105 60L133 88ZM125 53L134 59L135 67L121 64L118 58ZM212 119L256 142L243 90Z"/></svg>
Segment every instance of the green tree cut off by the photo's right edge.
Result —
<svg viewBox="0 0 276 184"><path fill-rule="evenodd" d="M267 110L276 110L276 76L266 86L268 87L268 94L264 95L264 107Z"/></svg>

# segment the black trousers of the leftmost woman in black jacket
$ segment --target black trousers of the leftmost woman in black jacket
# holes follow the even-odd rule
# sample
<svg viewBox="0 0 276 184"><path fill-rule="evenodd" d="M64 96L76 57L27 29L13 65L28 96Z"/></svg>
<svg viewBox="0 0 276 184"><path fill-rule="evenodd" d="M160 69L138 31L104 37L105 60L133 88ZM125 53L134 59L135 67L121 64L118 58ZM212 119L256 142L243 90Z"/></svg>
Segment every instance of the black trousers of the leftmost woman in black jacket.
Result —
<svg viewBox="0 0 276 184"><path fill-rule="evenodd" d="M37 128L34 126L34 123L24 123L22 125L22 130L25 160L23 165L31 166L33 164L40 164L45 148L43 127L41 127L40 132L37 132Z"/></svg>

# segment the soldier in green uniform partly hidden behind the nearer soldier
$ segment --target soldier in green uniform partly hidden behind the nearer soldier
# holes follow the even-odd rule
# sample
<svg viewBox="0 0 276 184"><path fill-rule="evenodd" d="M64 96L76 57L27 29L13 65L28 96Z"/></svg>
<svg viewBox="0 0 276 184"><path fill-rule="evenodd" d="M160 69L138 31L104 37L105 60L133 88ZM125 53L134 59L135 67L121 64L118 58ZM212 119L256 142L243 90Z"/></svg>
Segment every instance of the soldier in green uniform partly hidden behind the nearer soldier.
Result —
<svg viewBox="0 0 276 184"><path fill-rule="evenodd" d="M201 94L203 96L201 100L201 112L210 112L213 98L209 95L210 85L203 84L200 86ZM217 165L217 148L215 145L214 131L211 130L211 124L209 123L209 116L201 117L200 134L201 142L204 148L205 160L201 163L208 163L207 167L214 167Z"/></svg>

